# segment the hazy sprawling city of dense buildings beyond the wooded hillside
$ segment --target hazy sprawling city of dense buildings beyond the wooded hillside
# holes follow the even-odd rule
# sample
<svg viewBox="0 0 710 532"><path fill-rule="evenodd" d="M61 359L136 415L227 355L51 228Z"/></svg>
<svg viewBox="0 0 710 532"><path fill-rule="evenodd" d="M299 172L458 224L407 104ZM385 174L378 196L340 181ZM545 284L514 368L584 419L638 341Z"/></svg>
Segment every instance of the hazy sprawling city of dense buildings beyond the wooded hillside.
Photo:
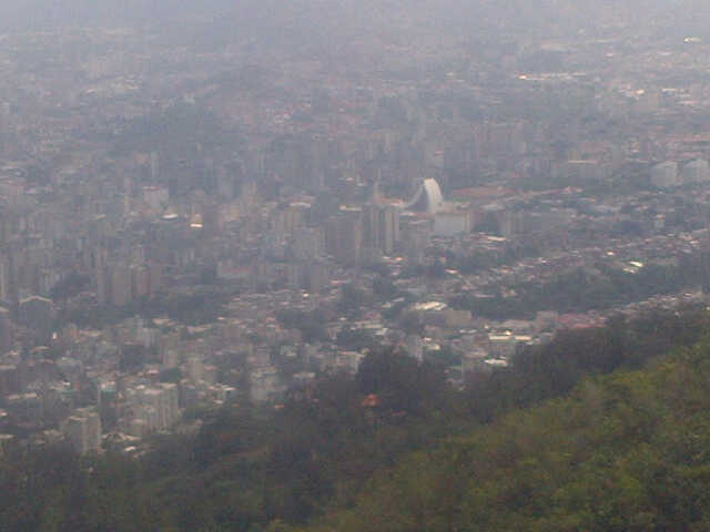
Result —
<svg viewBox="0 0 710 532"><path fill-rule="evenodd" d="M707 35L341 8L0 35L3 444L140 456L382 346L463 388L704 300Z"/></svg>

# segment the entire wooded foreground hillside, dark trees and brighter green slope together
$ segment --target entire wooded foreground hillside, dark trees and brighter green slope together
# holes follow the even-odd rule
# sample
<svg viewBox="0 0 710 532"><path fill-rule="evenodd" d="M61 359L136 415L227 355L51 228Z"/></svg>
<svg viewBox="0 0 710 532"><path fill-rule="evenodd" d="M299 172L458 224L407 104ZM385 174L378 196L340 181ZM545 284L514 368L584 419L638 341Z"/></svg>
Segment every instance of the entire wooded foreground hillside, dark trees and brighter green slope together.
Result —
<svg viewBox="0 0 710 532"><path fill-rule="evenodd" d="M561 334L464 391L375 352L141 459L10 446L0 531L710 530L709 325Z"/></svg>

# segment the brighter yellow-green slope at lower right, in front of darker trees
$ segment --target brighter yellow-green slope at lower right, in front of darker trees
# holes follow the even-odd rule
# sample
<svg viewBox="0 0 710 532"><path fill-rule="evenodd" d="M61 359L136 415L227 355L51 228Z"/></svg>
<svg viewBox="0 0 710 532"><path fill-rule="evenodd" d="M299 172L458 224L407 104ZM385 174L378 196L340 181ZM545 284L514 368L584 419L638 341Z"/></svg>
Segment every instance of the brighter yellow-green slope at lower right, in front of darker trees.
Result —
<svg viewBox="0 0 710 532"><path fill-rule="evenodd" d="M377 474L308 531L710 530L710 342Z"/></svg>

